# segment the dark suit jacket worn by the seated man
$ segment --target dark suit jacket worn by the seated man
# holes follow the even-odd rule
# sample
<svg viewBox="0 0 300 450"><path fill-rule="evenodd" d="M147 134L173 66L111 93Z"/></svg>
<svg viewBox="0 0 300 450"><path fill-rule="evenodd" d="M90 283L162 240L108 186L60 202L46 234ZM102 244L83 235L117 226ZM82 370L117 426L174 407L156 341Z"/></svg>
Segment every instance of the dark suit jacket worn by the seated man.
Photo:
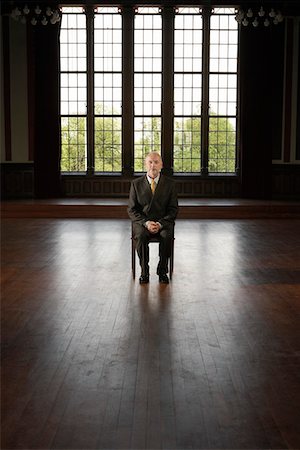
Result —
<svg viewBox="0 0 300 450"><path fill-rule="evenodd" d="M132 181L127 211L133 223L144 225L148 220L154 220L162 228L174 226L178 212L174 181L160 174L154 194L146 175Z"/></svg>

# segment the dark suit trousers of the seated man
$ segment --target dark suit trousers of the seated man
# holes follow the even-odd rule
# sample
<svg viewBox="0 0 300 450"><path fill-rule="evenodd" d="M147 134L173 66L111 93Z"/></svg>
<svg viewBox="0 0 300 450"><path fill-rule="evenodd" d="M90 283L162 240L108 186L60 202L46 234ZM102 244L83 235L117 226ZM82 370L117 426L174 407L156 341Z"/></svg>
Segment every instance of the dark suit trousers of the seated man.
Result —
<svg viewBox="0 0 300 450"><path fill-rule="evenodd" d="M150 233L143 225L133 224L133 239L140 260L143 276L149 275L149 242L152 238L159 239L159 263L157 274L168 273L168 260L171 255L171 244L174 227L163 228L159 233Z"/></svg>

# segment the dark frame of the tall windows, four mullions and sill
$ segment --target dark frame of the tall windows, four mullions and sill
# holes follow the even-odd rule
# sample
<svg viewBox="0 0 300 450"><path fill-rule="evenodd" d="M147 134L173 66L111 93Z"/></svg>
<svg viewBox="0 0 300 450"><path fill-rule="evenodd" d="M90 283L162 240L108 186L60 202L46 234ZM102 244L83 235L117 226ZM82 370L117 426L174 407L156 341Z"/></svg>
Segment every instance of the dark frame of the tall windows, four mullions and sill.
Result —
<svg viewBox="0 0 300 450"><path fill-rule="evenodd" d="M68 5L65 5L68 6ZM161 153L164 160L164 172L167 175L174 175L176 178L187 177L195 178L220 178L220 177L238 177L239 176L239 68L237 69L237 127L236 127L236 171L232 173L209 173L208 171L208 133L209 133L209 20L213 9L208 6L201 8L203 20L203 40L202 40L202 105L201 105L201 170L200 172L178 173L173 170L173 121L174 121L174 46L170 48L170 43L174 39L174 17L176 5L161 7L162 11L162 107L161 107ZM94 142L95 136L92 125L94 121L94 83L91 81L94 70L92 57L93 47L93 14L94 7L86 6L85 14L87 17L87 57L88 62L88 107L87 107L87 155L88 168L86 173L68 173L61 172L62 175L75 176L120 176L132 177L140 175L134 171L134 16L135 11L132 6L121 6L120 13L123 16L122 29L122 64L126 60L128 70L122 70L122 172L95 172L94 170ZM238 29L237 29L238 30ZM239 30L238 30L239 33ZM239 42L238 42L239 49ZM124 68L124 67L123 67ZM167 100L166 100L167 99ZM89 106L90 105L90 106ZM92 107L91 107L92 105Z"/></svg>

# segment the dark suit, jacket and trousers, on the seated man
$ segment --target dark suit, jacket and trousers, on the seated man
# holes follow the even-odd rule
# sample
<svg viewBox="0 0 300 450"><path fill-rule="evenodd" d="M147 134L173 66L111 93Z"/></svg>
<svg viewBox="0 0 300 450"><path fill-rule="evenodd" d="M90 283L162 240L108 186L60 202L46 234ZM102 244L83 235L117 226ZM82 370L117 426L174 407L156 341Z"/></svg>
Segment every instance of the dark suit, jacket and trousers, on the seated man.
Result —
<svg viewBox="0 0 300 450"><path fill-rule="evenodd" d="M131 183L128 215L133 224L133 238L142 275L149 274L149 240L153 236L145 227L146 222L153 220L162 226L160 232L155 234L159 236L160 241L157 273L167 273L177 212L177 193L172 179L161 174L154 194L146 175Z"/></svg>

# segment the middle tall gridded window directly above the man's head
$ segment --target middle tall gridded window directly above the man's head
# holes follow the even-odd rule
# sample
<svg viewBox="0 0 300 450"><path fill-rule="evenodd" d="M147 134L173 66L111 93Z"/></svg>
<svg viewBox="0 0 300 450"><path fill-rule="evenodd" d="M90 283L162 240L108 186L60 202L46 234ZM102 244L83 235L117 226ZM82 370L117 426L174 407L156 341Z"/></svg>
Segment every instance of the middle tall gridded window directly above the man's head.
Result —
<svg viewBox="0 0 300 450"><path fill-rule="evenodd" d="M161 149L162 20L158 8L138 8L134 30L134 170Z"/></svg>

